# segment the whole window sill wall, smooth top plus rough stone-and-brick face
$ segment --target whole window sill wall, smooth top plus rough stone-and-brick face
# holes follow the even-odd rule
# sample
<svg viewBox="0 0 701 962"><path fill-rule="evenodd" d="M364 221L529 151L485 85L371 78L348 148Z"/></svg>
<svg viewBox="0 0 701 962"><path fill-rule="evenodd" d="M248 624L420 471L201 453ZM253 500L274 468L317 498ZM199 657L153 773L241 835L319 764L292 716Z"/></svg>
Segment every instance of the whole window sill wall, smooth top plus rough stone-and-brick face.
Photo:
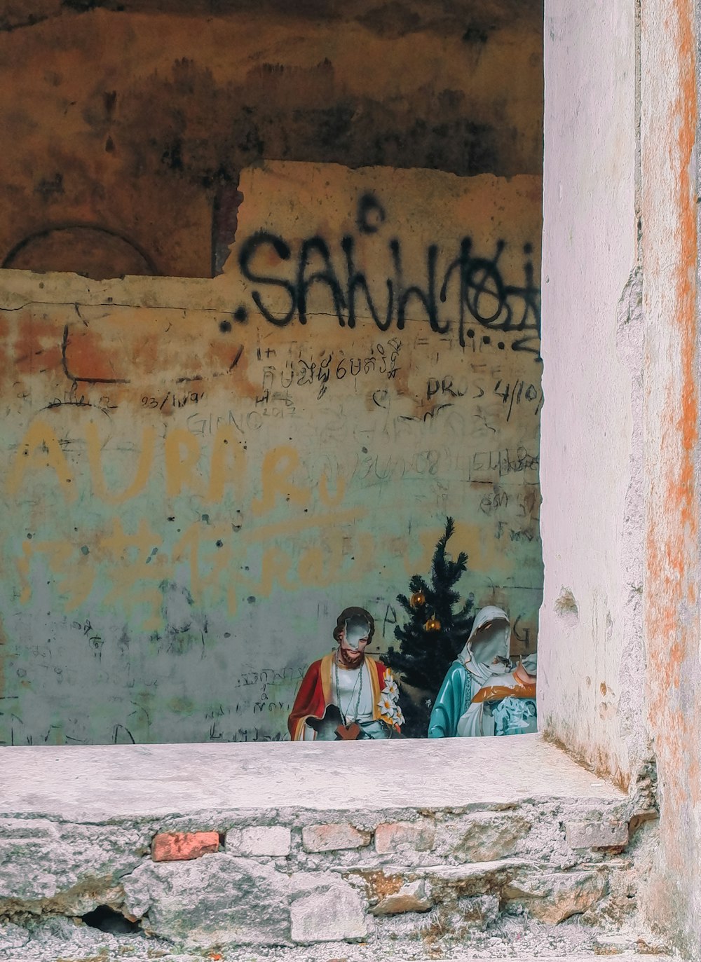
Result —
<svg viewBox="0 0 701 962"><path fill-rule="evenodd" d="M633 802L537 735L8 747L0 767L0 916L107 905L199 950L635 909Z"/></svg>

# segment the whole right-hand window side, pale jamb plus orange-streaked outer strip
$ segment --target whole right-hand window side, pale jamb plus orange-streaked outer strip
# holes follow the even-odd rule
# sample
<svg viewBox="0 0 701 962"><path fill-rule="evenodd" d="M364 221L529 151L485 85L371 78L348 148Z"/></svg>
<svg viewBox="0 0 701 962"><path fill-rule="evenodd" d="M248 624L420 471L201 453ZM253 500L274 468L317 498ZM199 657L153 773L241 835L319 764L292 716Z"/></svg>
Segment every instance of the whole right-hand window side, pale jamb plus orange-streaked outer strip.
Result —
<svg viewBox="0 0 701 962"><path fill-rule="evenodd" d="M636 59L634 3L566 14L546 6L539 689L554 737L624 784L657 779L661 844L640 866L646 911L693 959L701 957L698 32L692 3L643 0ZM584 50L599 58L593 69ZM583 305L584 325L559 337L551 318ZM598 376L584 343L571 340L583 330L606 358ZM578 479L584 459L606 478L603 489L591 473Z"/></svg>

